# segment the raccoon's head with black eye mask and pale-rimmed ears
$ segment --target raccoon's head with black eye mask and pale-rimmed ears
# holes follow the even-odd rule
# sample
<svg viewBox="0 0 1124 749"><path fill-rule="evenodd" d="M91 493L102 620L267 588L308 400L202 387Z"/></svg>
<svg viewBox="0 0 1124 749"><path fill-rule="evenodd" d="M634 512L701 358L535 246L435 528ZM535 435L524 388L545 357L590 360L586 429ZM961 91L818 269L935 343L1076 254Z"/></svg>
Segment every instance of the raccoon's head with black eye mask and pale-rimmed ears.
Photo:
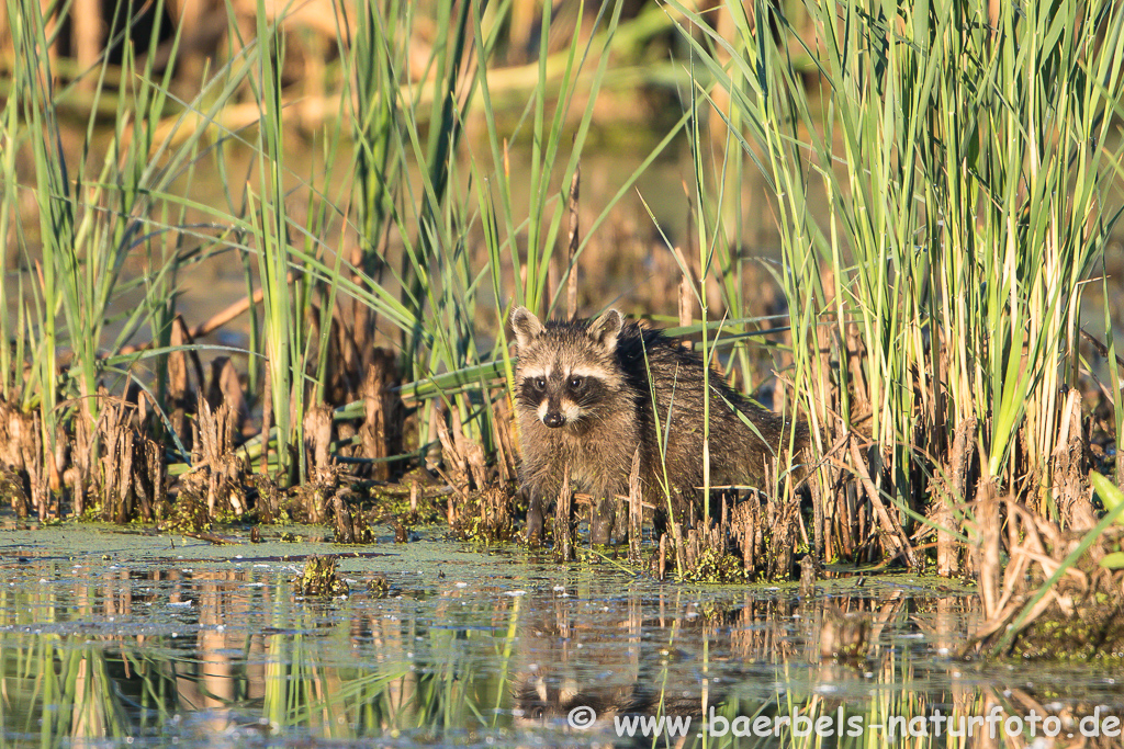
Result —
<svg viewBox="0 0 1124 749"><path fill-rule="evenodd" d="M549 322L528 310L511 312L519 347L516 390L519 409L550 427L580 428L619 390L615 351L623 319L609 310L590 325Z"/></svg>

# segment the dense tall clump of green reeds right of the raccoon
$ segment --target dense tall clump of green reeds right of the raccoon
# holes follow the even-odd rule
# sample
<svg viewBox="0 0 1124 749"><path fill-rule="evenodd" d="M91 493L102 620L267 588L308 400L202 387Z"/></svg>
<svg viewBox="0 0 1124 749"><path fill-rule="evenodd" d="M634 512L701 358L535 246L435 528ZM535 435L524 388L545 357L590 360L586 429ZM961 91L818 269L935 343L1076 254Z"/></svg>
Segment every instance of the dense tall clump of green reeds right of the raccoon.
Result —
<svg viewBox="0 0 1124 749"><path fill-rule="evenodd" d="M876 510L892 502L886 549L916 563L891 527L964 499L930 491L972 419L980 475L1058 518L1061 386L1077 384L1081 291L1117 217L1124 11L824 0L798 27L758 2L727 8L724 37L671 4L704 31L688 38L728 95L719 115L737 115L733 137L774 186L794 391L821 453L870 479ZM849 435L862 449L843 449ZM862 535L834 510L825 522L831 556Z"/></svg>

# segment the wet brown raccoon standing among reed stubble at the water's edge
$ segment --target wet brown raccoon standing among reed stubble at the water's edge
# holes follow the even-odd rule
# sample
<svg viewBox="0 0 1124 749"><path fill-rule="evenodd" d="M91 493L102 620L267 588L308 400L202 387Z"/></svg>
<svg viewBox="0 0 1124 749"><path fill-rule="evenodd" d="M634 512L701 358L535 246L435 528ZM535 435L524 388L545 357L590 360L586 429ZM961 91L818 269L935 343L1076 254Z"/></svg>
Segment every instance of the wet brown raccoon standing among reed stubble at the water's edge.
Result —
<svg viewBox="0 0 1124 749"><path fill-rule="evenodd" d="M677 522L682 521L698 503L704 481L703 357L660 330L626 321L617 310L593 321L544 325L517 307L511 328L519 353L519 482L528 500L528 538L541 536L543 514L569 464L571 486L595 497L591 540L608 544L615 497L628 493L637 448L644 503L656 508L656 528L667 522L664 484ZM711 485L761 477L790 438L797 450L805 448L803 423L750 402L717 373L710 373L709 385Z"/></svg>

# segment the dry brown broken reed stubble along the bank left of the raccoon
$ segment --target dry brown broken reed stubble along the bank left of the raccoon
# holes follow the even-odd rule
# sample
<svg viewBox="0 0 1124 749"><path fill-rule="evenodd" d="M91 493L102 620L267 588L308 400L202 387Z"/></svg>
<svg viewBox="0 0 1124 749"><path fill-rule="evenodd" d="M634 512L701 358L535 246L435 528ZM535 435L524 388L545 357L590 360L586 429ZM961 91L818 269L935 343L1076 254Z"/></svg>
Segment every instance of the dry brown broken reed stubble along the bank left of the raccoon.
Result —
<svg viewBox="0 0 1124 749"><path fill-rule="evenodd" d="M337 322L334 330L353 328ZM53 454L44 449L38 411L0 402L4 499L20 517L94 513L112 522L163 522L191 532L216 520L325 522L330 517L342 542L372 538L357 510L366 492L352 484L396 478L406 465L400 456L407 409L392 354L369 347L362 356L347 356L344 350L357 350L356 337L337 332L329 338L327 358L335 364L325 393L339 400L311 405L302 415L307 481L296 485L285 476L255 475L253 469L257 459L263 468L270 465L275 449L269 439L264 448L261 441L247 445L248 436L270 436L269 409L263 409L261 429L251 415L252 404L264 405L268 398L247 392L227 357L214 359L205 378L179 316L171 341L163 402L139 386L124 398L101 389L92 399L67 402L70 418L58 420ZM363 408L341 418L336 410L348 399ZM170 475L181 457L188 460Z"/></svg>

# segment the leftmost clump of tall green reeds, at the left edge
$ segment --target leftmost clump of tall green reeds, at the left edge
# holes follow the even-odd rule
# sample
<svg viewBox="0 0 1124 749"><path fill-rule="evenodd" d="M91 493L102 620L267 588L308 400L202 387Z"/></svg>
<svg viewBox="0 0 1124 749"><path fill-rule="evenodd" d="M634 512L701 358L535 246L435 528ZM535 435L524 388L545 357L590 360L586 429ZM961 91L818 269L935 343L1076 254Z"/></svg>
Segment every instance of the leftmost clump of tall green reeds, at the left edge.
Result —
<svg viewBox="0 0 1124 749"><path fill-rule="evenodd" d="M154 10L160 16L163 3L157 2ZM121 44L134 24L128 7L119 9L126 22L114 24L121 30L107 40L107 46L121 44L124 52L119 73L114 76L118 81L116 97L105 108L99 102L103 94L109 98L105 93L107 55L79 80L62 84L49 54L60 27L49 27L44 9L36 3L9 0L7 12L18 64L4 106L3 175L8 186L3 222L7 228L22 218L16 190L22 176L18 155L29 153L34 184L27 189L35 197L38 241L26 227L16 227L18 256L35 272L20 280L16 321L7 313L8 286L0 291L6 310L0 334L16 341L16 356L4 358L2 376L9 403L37 414L40 439L31 453L37 449L39 455L29 454L25 460L45 465L45 478L57 492L61 467L56 456L66 448L61 427L69 426L75 414L88 423L97 419L99 389L110 376L118 382L129 376L127 367L137 358L123 360L114 354L143 327L155 335L170 322L161 317L164 308L154 302L151 292L163 289L166 293L180 257L163 249L170 227L154 222L151 213L193 159L198 138L169 148L167 141L157 137L157 124L167 107L171 70L157 74L152 55L138 66L132 45ZM153 47L158 33L157 25L149 38ZM171 44L174 54L178 37L173 36ZM80 157L75 159L74 149L64 148L57 110L60 101L83 79L96 85L85 127L78 133ZM116 116L105 150L94 147L97 118L102 110ZM96 161L99 155L100 166ZM127 264L142 254L147 258L144 274L130 277ZM121 294L142 285L149 292L146 303L112 312ZM111 327L117 328L112 337L108 336ZM65 350L69 355L63 356ZM25 358L33 363L28 377L21 372ZM94 458L92 464L98 465L97 438L80 449L88 450ZM31 483L33 493L37 493L38 479ZM39 511L44 512L42 502Z"/></svg>

